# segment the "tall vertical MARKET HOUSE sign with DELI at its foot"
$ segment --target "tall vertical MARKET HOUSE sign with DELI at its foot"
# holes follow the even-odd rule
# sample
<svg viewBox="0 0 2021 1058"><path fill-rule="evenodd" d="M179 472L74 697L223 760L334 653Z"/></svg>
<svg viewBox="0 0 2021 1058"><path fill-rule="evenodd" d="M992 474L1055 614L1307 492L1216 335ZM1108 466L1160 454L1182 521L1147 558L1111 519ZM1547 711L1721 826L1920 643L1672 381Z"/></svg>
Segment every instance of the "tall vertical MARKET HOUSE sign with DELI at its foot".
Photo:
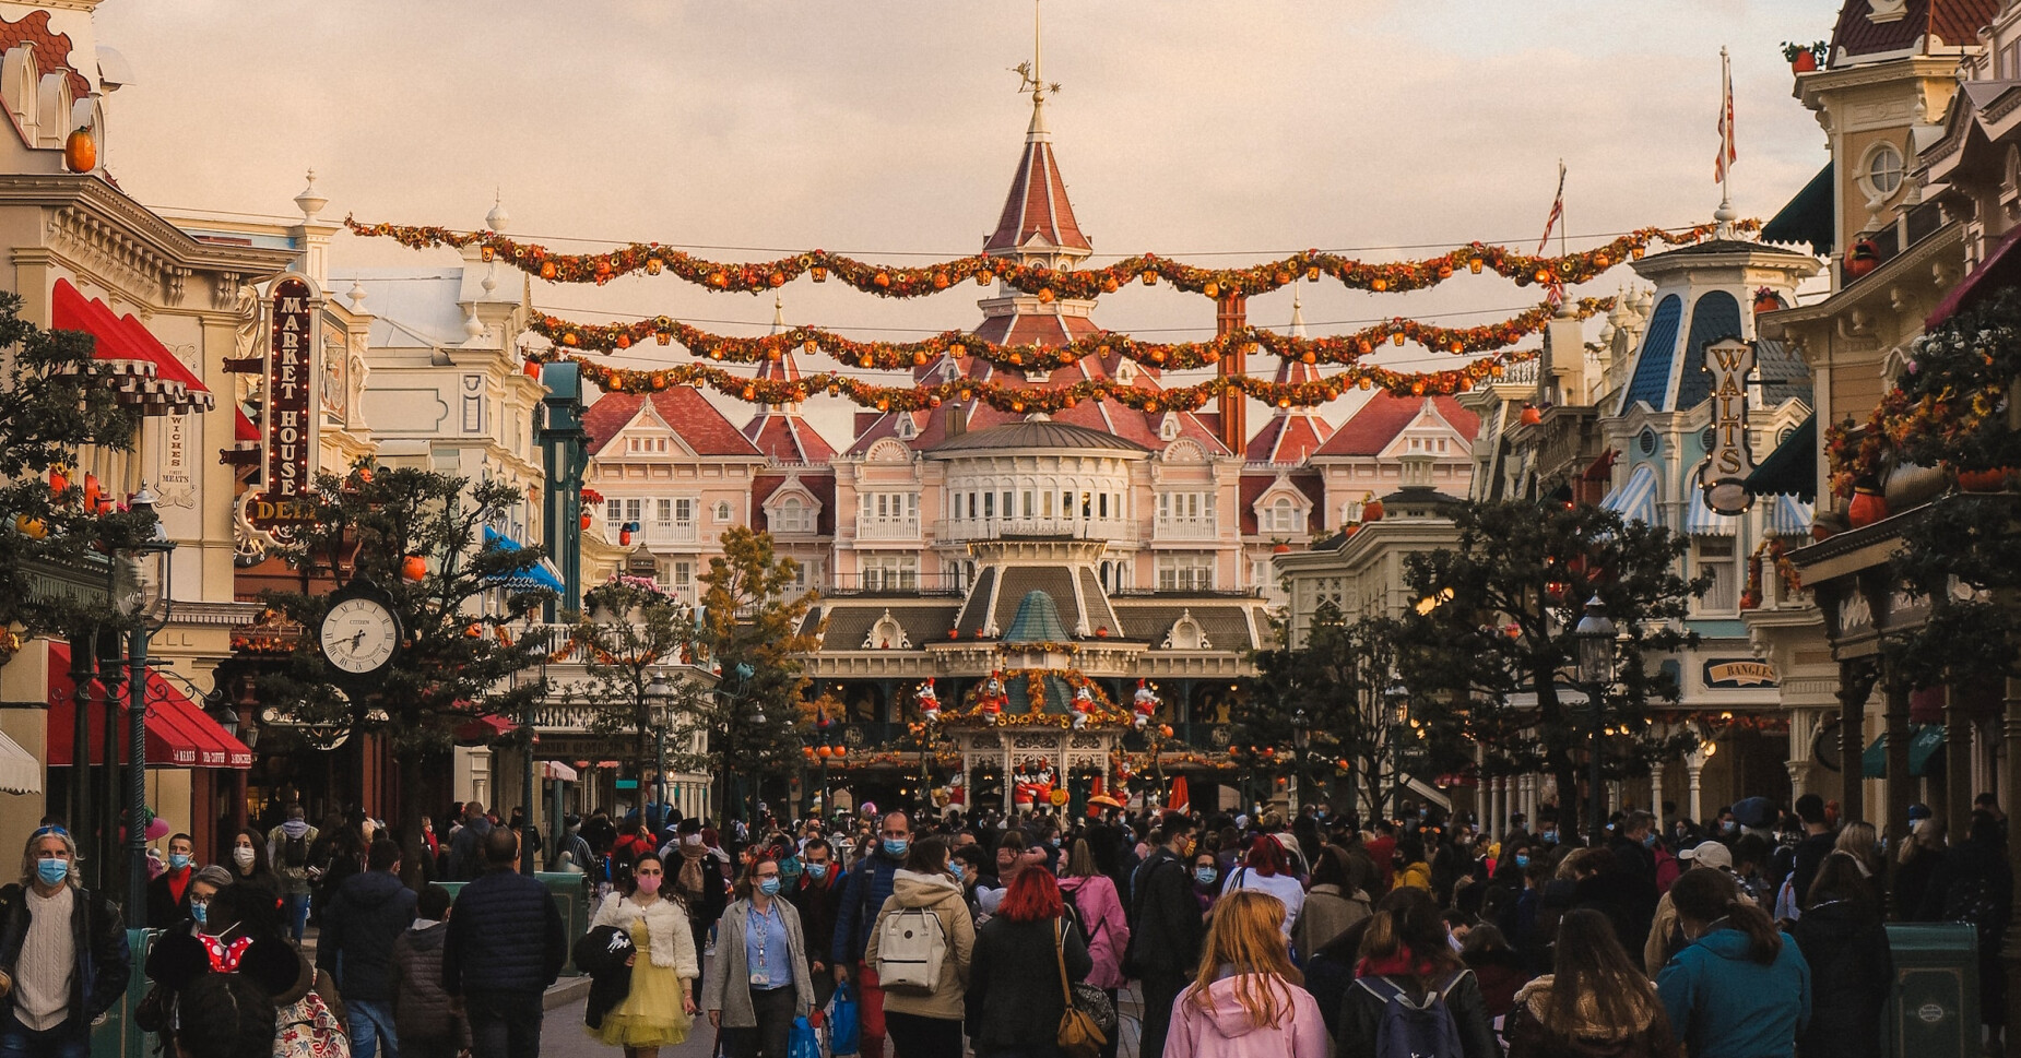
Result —
<svg viewBox="0 0 2021 1058"><path fill-rule="evenodd" d="M253 525L289 535L315 519L309 466L315 454L315 299L307 281L281 277L271 299L267 349L267 481L247 511Z"/></svg>

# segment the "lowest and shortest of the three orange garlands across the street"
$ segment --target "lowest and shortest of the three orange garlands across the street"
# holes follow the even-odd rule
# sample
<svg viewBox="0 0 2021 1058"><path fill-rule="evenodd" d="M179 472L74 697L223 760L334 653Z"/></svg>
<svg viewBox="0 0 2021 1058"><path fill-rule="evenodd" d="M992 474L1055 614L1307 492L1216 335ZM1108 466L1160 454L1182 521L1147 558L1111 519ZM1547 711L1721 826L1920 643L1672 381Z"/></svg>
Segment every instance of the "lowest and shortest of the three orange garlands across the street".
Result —
<svg viewBox="0 0 2021 1058"><path fill-rule="evenodd" d="M1502 376L1510 363L1536 357L1536 349L1512 349L1479 357L1445 372L1392 372L1356 363L1344 372L1314 382L1273 382L1255 376L1217 376L1194 386L1146 390L1112 378L1083 380L1071 386L1006 386L968 378L934 386L879 386L837 372L821 372L798 380L734 376L709 363L675 363L673 367L629 369L606 367L560 349L538 351L530 363L570 361L582 367L582 378L606 394L651 394L671 386L699 386L734 396L746 404L800 404L810 394L849 398L857 406L879 412L916 412L940 408L948 400L980 400L1000 412L1061 412L1083 400L1114 400L1138 412L1194 412L1223 392L1237 390L1277 408L1310 408L1338 400L1348 390L1386 390L1397 396L1451 396L1471 390L1483 380Z"/></svg>

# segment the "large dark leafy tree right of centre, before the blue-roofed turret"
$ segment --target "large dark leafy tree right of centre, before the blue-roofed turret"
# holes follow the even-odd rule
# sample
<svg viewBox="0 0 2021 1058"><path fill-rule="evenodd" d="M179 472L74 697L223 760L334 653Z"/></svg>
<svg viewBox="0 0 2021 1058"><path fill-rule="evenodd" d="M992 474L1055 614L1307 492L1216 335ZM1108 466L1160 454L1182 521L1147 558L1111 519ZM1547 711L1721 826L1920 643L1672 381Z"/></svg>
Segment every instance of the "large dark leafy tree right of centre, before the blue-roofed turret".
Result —
<svg viewBox="0 0 2021 1058"><path fill-rule="evenodd" d="M1677 703L1661 654L1698 642L1683 628L1710 579L1683 579L1683 537L1599 507L1534 501L1465 503L1453 547L1411 555L1405 579L1421 606L1403 616L1399 664L1413 713L1435 739L1465 737L1487 775L1544 771L1570 826L1580 751L1593 747L1586 689L1576 686L1584 602L1599 596L1621 632L1605 693L1605 773L1645 775L1694 739L1663 737L1651 713Z"/></svg>

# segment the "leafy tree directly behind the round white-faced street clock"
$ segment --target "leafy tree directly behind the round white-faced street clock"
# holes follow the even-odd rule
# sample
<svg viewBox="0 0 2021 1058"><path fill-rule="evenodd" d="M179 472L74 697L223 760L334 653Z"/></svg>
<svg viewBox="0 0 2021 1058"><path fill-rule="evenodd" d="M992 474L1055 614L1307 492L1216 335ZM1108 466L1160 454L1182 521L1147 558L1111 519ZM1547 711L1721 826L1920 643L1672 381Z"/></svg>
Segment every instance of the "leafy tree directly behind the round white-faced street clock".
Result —
<svg viewBox="0 0 2021 1058"><path fill-rule="evenodd" d="M309 499L315 523L291 565L340 586L368 577L386 590L404 642L386 678L348 699L327 682L315 642L329 594L269 592L267 602L305 630L273 697L299 703L297 721L392 739L398 826L412 864L428 761L447 755L459 727L485 717L519 723L546 695L546 680L532 674L548 656L550 636L534 632L532 620L552 592L525 590L523 581L509 588L540 565L542 549L483 543L483 529L523 501L501 481L360 464L346 477L317 474ZM426 561L420 579L404 575L408 557ZM530 745L532 727L521 723L511 739Z"/></svg>

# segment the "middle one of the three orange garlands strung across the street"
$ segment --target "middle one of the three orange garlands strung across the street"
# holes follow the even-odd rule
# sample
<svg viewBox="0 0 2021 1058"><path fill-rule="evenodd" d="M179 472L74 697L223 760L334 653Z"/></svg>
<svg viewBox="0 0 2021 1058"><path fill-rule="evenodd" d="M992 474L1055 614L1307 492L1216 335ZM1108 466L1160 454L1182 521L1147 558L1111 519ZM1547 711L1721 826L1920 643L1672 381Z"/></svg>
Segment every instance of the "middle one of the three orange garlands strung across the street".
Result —
<svg viewBox="0 0 2021 1058"><path fill-rule="evenodd" d="M1611 297L1586 297L1572 305L1576 319L1589 319L1615 307ZM944 331L922 341L853 341L823 327L794 327L764 337L715 335L671 317L635 323L572 323L552 315L534 317L527 327L556 345L584 351L622 351L645 341L669 345L679 341L687 351L726 363L776 361L794 351L829 353L843 363L895 372L924 367L942 353L986 359L1004 369L1069 367L1089 355L1120 353L1138 363L1174 372L1211 367L1231 351L1273 353L1302 363L1354 363L1384 341L1403 345L1415 341L1441 353L1485 353L1522 341L1544 329L1556 309L1546 301L1516 317L1481 327L1439 327L1415 319L1384 319L1350 335L1297 337L1243 327L1207 341L1138 341L1124 333L1103 331L1067 345L998 345L966 331Z"/></svg>

